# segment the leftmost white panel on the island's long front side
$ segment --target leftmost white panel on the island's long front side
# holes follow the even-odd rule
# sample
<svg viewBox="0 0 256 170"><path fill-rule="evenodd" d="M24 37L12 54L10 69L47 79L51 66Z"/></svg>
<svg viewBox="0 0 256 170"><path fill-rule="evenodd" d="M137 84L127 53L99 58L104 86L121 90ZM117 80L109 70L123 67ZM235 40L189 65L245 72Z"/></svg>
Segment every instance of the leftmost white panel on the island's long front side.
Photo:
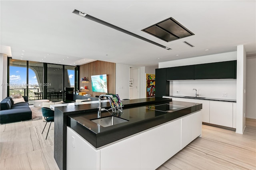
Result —
<svg viewBox="0 0 256 170"><path fill-rule="evenodd" d="M151 152L148 148L148 152ZM100 169L140 169L140 135L132 136L100 149Z"/></svg>

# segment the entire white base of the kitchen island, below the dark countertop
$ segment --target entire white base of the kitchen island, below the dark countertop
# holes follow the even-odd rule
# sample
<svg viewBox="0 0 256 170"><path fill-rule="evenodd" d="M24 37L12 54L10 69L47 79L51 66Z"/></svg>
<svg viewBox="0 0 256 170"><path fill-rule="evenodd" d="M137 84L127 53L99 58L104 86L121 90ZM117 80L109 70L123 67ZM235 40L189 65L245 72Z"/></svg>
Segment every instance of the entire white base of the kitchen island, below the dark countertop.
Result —
<svg viewBox="0 0 256 170"><path fill-rule="evenodd" d="M154 170L202 132L202 111L94 148L67 127L67 169Z"/></svg>

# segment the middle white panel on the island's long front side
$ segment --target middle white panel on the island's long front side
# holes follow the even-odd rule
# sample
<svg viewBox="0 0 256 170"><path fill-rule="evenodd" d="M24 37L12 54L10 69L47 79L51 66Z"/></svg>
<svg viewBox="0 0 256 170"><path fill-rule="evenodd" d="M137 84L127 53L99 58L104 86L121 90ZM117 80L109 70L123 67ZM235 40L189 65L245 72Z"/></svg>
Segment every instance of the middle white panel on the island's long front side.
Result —
<svg viewBox="0 0 256 170"><path fill-rule="evenodd" d="M181 119L141 134L141 169L156 169L180 151Z"/></svg>

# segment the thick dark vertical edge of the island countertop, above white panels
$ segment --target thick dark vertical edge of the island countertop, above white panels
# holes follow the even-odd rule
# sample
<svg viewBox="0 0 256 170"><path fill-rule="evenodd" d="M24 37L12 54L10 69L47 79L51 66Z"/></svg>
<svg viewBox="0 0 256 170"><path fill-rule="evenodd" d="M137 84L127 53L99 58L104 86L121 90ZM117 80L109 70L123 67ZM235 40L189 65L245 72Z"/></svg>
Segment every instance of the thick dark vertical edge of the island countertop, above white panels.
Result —
<svg viewBox="0 0 256 170"><path fill-rule="evenodd" d="M95 134L91 130L86 129L86 127L82 126L80 123L76 122L74 119L70 117L68 117L68 122L69 122L68 126L73 130L75 130L78 134L80 134L80 136L82 136L95 148L99 148L106 144L116 142L117 140L126 138L128 136L142 132L144 130L147 130L149 128L156 127L158 125L161 125L170 121L174 121L175 119L179 119L183 116L189 115L190 113L194 113L201 109L202 109L202 104L198 104L182 110L175 111L172 114L166 113L164 115L160 115L152 119L143 120L127 126L117 127L112 130L108 130L106 132L102 132L98 134Z"/></svg>

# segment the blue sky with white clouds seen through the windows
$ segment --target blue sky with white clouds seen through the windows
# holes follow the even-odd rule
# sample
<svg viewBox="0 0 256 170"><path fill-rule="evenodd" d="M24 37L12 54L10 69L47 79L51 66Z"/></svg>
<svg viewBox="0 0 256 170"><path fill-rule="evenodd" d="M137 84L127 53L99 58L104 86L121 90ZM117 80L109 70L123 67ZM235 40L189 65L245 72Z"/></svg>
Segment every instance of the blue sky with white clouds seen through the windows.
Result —
<svg viewBox="0 0 256 170"><path fill-rule="evenodd" d="M70 80L70 85L74 86L75 71L68 70L68 77ZM36 74L32 69L28 69L29 82L28 84L34 85L38 84ZM18 86L26 86L26 67L15 67L10 66L10 84L18 84Z"/></svg>

